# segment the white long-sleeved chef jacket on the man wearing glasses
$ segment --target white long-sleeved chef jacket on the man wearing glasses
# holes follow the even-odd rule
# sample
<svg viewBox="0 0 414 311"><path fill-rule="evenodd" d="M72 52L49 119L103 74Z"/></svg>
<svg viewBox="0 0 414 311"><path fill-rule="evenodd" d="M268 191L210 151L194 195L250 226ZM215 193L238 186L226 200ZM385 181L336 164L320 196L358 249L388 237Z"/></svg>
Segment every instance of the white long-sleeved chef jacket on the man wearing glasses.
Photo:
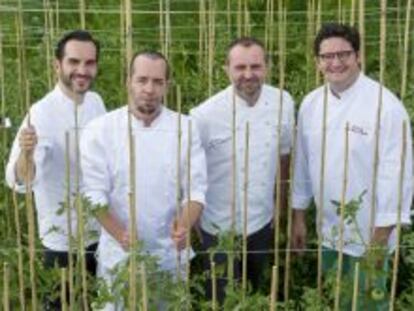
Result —
<svg viewBox="0 0 414 311"><path fill-rule="evenodd" d="M349 123L349 160L346 200L349 203L364 192L357 213L357 224L345 222L344 253L361 256L369 243L372 175L375 153L375 127L380 86L360 74L357 81L337 98L328 92L326 120L325 183L323 197L323 245L336 248L339 236L339 214L333 201L340 202L345 162L345 128ZM306 208L312 199L320 210L320 168L324 87L305 97L298 117L298 137L293 189L293 207ZM412 147L409 117L402 103L383 88L383 106L379 133L379 165L375 197L375 226L397 223L398 184L402 152L402 122L407 122L407 152L404 169L402 224L410 223L412 198ZM363 243L364 242L364 243ZM395 245L391 236L389 246Z"/></svg>

